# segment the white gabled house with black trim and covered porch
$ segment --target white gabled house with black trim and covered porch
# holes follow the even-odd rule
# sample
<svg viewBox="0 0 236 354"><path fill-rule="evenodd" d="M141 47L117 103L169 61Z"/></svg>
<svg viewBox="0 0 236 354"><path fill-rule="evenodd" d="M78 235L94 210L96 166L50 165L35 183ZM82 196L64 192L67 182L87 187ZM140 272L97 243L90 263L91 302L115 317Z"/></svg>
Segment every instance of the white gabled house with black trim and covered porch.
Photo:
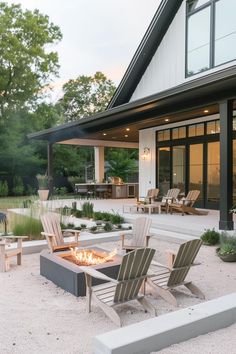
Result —
<svg viewBox="0 0 236 354"><path fill-rule="evenodd" d="M139 147L139 195L201 191L232 229L236 202L236 1L163 0L106 111L37 132L48 142ZM235 116L235 118L234 118Z"/></svg>

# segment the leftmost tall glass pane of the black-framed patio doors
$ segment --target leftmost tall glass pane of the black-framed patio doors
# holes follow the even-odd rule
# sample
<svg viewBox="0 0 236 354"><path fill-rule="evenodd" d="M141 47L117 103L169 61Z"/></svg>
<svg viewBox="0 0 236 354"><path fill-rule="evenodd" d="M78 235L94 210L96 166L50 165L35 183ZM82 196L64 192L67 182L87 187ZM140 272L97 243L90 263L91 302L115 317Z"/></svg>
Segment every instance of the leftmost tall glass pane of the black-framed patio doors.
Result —
<svg viewBox="0 0 236 354"><path fill-rule="evenodd" d="M165 195L170 189L170 148L158 149L158 188Z"/></svg>

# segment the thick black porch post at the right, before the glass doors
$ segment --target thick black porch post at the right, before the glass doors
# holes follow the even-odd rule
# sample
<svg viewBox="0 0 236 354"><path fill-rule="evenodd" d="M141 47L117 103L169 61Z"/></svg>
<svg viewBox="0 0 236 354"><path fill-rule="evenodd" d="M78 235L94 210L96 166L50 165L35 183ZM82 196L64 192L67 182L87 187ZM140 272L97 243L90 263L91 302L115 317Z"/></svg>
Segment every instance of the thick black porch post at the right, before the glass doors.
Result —
<svg viewBox="0 0 236 354"><path fill-rule="evenodd" d="M220 230L233 230L233 102L220 102Z"/></svg>

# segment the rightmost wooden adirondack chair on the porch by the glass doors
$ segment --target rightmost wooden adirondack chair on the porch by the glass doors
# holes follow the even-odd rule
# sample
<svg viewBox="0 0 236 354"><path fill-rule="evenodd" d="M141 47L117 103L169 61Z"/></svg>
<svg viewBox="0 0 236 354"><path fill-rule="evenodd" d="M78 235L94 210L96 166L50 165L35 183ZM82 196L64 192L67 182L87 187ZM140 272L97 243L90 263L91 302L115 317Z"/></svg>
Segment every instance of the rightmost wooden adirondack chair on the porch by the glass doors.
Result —
<svg viewBox="0 0 236 354"><path fill-rule="evenodd" d="M172 203L169 205L170 213L173 211L180 212L182 215L184 214L195 214L195 215L207 215L208 211L197 210L193 207L197 198L199 197L199 190L192 190L188 192L186 198L182 198L179 203Z"/></svg>

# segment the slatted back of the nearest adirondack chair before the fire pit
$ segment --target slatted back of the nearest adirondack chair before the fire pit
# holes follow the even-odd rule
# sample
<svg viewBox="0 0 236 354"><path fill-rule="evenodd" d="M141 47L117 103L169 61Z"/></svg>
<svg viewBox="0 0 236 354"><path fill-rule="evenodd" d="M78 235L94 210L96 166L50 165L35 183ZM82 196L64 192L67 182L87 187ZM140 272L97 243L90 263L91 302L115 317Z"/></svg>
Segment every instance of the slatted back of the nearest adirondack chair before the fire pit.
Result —
<svg viewBox="0 0 236 354"><path fill-rule="evenodd" d="M114 302L137 298L142 282L155 254L152 248L139 248L123 256L117 280Z"/></svg>

